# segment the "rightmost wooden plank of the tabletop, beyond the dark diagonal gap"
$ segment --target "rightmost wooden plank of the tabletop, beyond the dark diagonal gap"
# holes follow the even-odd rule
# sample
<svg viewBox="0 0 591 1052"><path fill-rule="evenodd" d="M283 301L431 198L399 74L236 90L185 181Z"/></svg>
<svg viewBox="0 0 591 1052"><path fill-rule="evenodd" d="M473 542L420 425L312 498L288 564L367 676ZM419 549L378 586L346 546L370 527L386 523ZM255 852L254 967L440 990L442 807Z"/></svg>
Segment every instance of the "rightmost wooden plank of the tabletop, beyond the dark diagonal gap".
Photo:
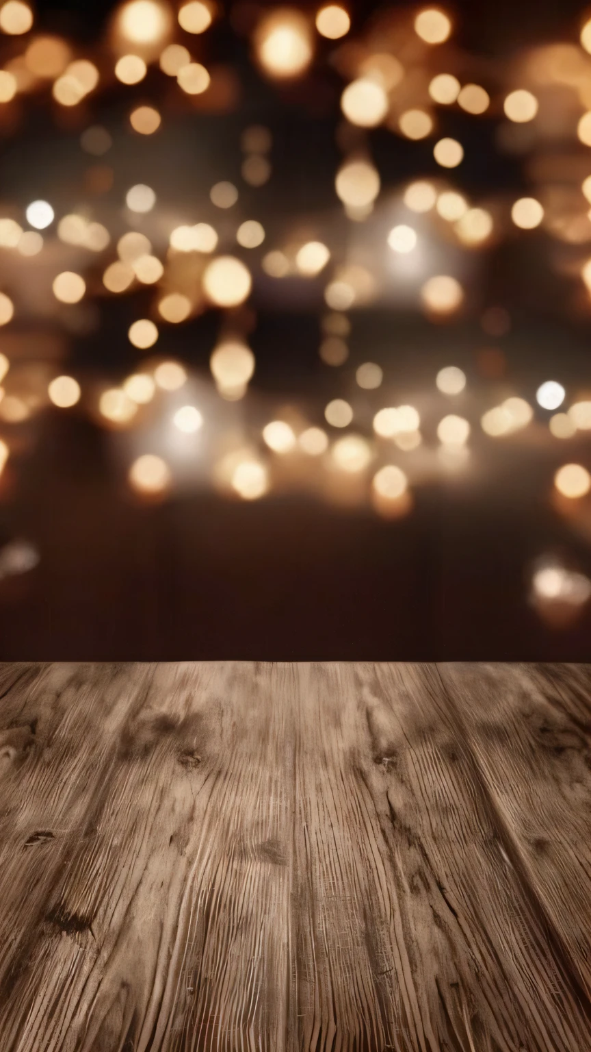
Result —
<svg viewBox="0 0 591 1052"><path fill-rule="evenodd" d="M568 666L442 665L513 864L591 995L591 687Z"/></svg>

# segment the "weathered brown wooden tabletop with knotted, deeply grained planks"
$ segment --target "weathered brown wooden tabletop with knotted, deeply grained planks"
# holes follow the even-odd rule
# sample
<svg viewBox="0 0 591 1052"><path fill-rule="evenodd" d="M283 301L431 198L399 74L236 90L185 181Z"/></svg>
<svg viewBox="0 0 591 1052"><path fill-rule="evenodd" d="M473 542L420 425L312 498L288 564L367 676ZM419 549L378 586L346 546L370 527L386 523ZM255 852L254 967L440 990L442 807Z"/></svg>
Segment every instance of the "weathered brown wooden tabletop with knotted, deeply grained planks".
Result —
<svg viewBox="0 0 591 1052"><path fill-rule="evenodd" d="M0 666L0 1052L589 1052L591 667Z"/></svg>

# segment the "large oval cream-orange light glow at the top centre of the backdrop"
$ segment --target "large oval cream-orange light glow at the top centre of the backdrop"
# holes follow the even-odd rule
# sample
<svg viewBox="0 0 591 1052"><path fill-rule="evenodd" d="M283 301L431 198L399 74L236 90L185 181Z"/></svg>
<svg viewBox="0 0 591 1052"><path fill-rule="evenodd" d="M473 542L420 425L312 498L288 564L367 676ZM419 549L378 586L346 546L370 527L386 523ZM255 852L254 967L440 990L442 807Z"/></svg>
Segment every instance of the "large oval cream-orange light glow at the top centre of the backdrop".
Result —
<svg viewBox="0 0 591 1052"><path fill-rule="evenodd" d="M259 62L270 77L299 77L312 58L309 22L295 8L283 7L264 15L254 44Z"/></svg>

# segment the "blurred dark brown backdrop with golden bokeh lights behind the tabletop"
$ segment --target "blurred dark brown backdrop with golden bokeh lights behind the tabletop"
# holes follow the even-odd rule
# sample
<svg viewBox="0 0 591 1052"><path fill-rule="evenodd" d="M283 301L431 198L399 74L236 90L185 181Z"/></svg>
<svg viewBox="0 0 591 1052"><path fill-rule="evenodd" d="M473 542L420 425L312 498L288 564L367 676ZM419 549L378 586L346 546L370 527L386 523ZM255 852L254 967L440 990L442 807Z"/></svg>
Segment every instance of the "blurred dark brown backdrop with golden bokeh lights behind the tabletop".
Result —
<svg viewBox="0 0 591 1052"><path fill-rule="evenodd" d="M0 660L591 658L591 9L0 3Z"/></svg>

